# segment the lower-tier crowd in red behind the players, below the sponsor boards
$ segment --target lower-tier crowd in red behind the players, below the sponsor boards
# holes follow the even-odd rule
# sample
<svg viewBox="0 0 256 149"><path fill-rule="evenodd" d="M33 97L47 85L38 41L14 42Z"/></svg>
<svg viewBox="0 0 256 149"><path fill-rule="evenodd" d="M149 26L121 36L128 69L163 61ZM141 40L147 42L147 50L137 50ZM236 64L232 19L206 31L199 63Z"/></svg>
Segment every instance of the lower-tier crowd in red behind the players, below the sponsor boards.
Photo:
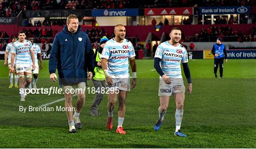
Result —
<svg viewBox="0 0 256 149"><path fill-rule="evenodd" d="M34 37L35 43L42 44L42 51L45 51L47 43L53 43L57 30L51 28L37 28L23 29L26 32L27 37ZM86 29L84 31L91 40L91 46L97 47L100 44L102 36L107 36L109 39L113 38L114 32L108 33L104 28L100 29ZM0 50L4 50L4 45L11 42L11 37L5 31L0 32ZM251 34L245 35L241 31L233 31L231 27L216 27L210 26L209 28L202 28L200 33L196 33L194 36L186 36L182 33L181 42L216 42L216 39L220 37L223 42L256 42L256 27L253 27ZM2 39L1 39L2 38ZM4 39L5 38L5 39ZM143 49L144 45L140 43L138 36L131 37L126 35L126 38L133 44L135 50ZM4 47L2 47L4 46Z"/></svg>

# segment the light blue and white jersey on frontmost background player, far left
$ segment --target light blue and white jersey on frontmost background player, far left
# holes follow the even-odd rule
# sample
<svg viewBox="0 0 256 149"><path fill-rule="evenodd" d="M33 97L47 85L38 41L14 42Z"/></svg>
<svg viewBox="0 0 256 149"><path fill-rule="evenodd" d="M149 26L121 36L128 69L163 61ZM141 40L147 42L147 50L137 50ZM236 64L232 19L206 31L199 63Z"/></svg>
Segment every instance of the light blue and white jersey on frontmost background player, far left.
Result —
<svg viewBox="0 0 256 149"><path fill-rule="evenodd" d="M30 41L26 40L24 43L20 43L16 41L13 43L11 53L16 53L15 62L16 64L30 64L31 56L30 49L32 48L32 44Z"/></svg>

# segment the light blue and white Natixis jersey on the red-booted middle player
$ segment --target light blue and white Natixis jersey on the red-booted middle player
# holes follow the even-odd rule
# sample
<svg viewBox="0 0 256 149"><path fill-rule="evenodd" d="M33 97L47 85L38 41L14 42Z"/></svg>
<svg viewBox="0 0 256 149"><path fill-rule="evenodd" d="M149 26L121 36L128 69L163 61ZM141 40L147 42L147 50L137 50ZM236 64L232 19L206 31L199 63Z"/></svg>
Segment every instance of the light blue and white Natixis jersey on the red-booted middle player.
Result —
<svg viewBox="0 0 256 149"><path fill-rule="evenodd" d="M129 58L135 56L133 45L127 39L122 43L110 39L104 45L101 58L108 59L108 72L110 75L124 75L129 73Z"/></svg>

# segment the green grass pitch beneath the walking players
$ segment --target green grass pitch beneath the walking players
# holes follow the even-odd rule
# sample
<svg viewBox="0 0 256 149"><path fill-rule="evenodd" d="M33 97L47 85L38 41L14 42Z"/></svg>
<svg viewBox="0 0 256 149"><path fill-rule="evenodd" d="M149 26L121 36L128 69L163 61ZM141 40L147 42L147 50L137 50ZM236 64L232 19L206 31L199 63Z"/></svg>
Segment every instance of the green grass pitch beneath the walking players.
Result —
<svg viewBox="0 0 256 149"><path fill-rule="evenodd" d="M80 114L83 125L68 132L65 112L19 112L19 106L43 105L64 95L28 95L20 102L17 88L9 89L8 68L0 61L0 148L256 148L256 61L229 60L224 63L224 79L215 79L213 60L190 60L193 91L185 96L182 131L174 136L173 96L159 131L154 131L159 106L158 75L153 60L137 60L137 86L128 92L124 120L126 135L107 130L107 96L99 116L91 116L93 94L86 94ZM184 78L184 77L183 77ZM187 86L186 79L184 84ZM92 87L91 81L88 82ZM48 61L39 72L37 88L58 87L51 82ZM77 97L73 98L75 105ZM49 107L64 106L64 101Z"/></svg>

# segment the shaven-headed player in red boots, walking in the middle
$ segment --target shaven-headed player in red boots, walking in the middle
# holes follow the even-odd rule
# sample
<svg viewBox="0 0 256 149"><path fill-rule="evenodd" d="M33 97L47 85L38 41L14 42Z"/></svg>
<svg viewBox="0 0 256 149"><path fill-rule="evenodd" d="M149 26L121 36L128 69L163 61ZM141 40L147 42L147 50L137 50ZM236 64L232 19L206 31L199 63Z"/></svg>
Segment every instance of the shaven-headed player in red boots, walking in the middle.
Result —
<svg viewBox="0 0 256 149"><path fill-rule="evenodd" d="M131 64L133 80L131 88L136 86L136 63L135 51L130 41L125 39L126 29L123 25L116 25L114 29L115 37L104 45L101 53L101 66L104 71L108 94L108 119L107 128L113 127L113 111L119 98L118 127L116 132L126 134L123 130L123 121L126 111L125 101L127 92L130 90L129 61ZM115 92L111 92L115 90Z"/></svg>

